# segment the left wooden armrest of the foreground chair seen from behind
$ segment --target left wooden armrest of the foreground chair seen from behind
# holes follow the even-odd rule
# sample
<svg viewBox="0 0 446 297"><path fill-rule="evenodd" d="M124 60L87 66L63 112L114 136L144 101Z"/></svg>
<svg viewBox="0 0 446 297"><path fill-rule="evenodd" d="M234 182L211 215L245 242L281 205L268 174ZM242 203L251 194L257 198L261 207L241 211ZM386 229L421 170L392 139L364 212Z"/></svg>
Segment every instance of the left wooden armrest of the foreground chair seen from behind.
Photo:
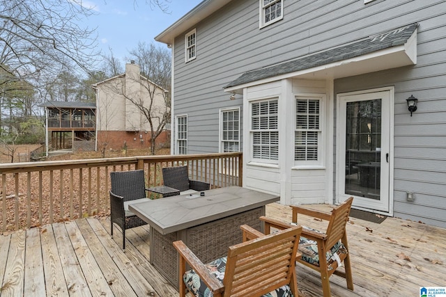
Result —
<svg viewBox="0 0 446 297"><path fill-rule="evenodd" d="M185 259L185 262L187 262L187 264L189 264L200 276L200 279L203 280L210 291L212 291L214 294L224 291L224 285L217 280L214 275L210 274L208 268L201 263L200 259L194 255L192 250L187 248L183 241L174 241L174 248L178 250L180 257ZM180 280L183 280L183 275L180 276Z"/></svg>

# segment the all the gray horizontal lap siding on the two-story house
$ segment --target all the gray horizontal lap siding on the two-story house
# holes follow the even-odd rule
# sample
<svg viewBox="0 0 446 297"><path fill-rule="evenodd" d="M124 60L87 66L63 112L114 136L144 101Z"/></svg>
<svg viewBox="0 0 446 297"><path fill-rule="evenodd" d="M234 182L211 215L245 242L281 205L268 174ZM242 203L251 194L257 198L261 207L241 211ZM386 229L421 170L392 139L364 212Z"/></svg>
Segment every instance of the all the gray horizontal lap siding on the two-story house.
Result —
<svg viewBox="0 0 446 297"><path fill-rule="evenodd" d="M284 0L284 19L259 29L259 1L231 1L174 40L174 114L187 114L188 152L218 152L219 110L240 106L244 114L243 93L230 101L223 87L245 72L417 22L416 65L335 79L327 100L339 93L394 87L393 214L446 227L445 20L446 2L440 0ZM197 30L197 58L185 63L185 34L192 29ZM419 99L413 117L406 105L410 95ZM335 136L336 102L331 106ZM335 147L333 152L335 162ZM329 167L334 172L336 164ZM302 183L300 177L293 179ZM407 191L415 193L414 202L406 201ZM334 200L334 189L330 195Z"/></svg>

